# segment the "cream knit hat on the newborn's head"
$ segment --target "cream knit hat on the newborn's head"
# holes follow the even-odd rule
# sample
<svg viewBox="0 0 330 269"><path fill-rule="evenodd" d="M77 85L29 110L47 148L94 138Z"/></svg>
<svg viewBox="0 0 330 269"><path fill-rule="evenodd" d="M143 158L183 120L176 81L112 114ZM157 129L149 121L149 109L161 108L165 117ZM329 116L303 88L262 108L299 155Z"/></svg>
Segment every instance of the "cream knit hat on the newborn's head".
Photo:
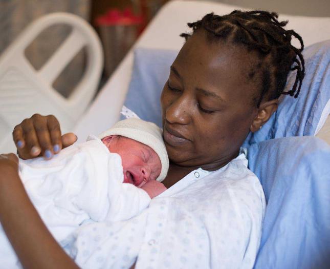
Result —
<svg viewBox="0 0 330 269"><path fill-rule="evenodd" d="M159 156L162 164L162 170L157 181L162 181L168 171L168 156L163 141L163 132L155 124L139 118L128 118L118 121L112 128L101 133L99 138L102 139L109 135L121 135L143 144L146 144L153 149Z"/></svg>

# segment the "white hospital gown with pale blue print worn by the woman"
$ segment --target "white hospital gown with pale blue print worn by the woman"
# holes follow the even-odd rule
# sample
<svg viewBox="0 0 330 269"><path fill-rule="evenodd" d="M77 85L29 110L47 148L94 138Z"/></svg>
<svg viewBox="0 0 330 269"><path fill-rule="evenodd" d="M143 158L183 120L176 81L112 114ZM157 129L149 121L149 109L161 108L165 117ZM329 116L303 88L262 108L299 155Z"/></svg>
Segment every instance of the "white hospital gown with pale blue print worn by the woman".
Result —
<svg viewBox="0 0 330 269"><path fill-rule="evenodd" d="M83 225L65 250L82 268L252 268L266 202L247 163L192 171L134 218Z"/></svg>

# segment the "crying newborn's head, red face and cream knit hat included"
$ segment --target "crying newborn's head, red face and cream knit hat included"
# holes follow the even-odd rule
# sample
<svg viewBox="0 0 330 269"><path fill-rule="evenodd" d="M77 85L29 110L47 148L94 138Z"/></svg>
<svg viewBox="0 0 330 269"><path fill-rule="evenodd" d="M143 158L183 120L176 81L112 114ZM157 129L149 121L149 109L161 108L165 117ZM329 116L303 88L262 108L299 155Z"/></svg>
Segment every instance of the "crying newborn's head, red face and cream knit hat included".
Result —
<svg viewBox="0 0 330 269"><path fill-rule="evenodd" d="M124 182L142 187L148 180L162 181L168 157L161 129L152 122L129 118L99 135L112 153L121 157Z"/></svg>

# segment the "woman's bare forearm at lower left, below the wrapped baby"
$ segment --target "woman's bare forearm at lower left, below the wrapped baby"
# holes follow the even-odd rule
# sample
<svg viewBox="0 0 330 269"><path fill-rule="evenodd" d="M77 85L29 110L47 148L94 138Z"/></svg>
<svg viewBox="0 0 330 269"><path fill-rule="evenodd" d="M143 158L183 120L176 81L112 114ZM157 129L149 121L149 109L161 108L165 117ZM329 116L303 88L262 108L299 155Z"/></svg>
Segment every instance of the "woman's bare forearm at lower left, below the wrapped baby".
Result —
<svg viewBox="0 0 330 269"><path fill-rule="evenodd" d="M14 154L0 155L0 222L24 268L78 268L43 224L18 176Z"/></svg>

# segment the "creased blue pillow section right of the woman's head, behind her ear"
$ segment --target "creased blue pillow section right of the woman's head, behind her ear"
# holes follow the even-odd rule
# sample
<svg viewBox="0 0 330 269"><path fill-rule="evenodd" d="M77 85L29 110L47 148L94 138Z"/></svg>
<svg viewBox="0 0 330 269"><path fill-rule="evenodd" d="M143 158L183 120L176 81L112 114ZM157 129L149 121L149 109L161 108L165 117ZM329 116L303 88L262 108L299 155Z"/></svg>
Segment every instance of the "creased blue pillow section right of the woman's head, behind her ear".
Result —
<svg viewBox="0 0 330 269"><path fill-rule="evenodd" d="M323 109L330 99L330 40L316 43L303 51L305 77L297 99L281 95L277 111L246 144L285 136L315 135ZM292 89L295 72L288 77L285 91Z"/></svg>

